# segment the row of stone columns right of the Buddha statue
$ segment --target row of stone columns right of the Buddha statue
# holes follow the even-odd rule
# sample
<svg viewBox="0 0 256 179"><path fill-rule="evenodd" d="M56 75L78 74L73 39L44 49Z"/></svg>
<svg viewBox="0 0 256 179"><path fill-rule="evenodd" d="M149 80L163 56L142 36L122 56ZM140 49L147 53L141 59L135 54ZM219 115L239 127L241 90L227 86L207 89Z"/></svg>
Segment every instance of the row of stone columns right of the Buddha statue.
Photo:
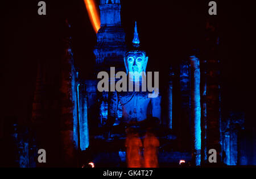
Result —
<svg viewBox="0 0 256 179"><path fill-rule="evenodd" d="M220 61L217 56L216 23L208 20L206 30L207 37L204 41L205 46L201 50L201 59L199 59L199 53L193 51L188 60L190 73L185 71L184 63L181 64L179 72L181 113L191 111L191 115L188 113L188 116L180 114L179 120L183 129L185 123L191 120L192 162L197 166L209 164L208 151L210 149L217 151L217 163L221 163ZM173 129L174 70L170 70L169 77L168 118L169 127ZM186 80L190 80L190 84ZM186 95L191 98L185 98ZM181 138L181 135L178 134L178 137Z"/></svg>

